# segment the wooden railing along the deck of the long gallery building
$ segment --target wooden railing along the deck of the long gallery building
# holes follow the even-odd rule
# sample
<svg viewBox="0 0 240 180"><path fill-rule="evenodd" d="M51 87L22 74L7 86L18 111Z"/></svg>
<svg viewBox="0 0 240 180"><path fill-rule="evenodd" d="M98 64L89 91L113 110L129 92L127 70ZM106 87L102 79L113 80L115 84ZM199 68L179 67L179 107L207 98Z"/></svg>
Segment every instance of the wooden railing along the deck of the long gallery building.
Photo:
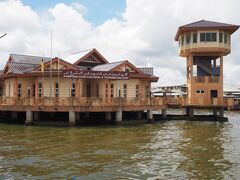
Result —
<svg viewBox="0 0 240 180"><path fill-rule="evenodd" d="M82 98L0 98L0 106L161 106L163 105L162 97L148 97L148 98L96 98L96 97L82 97Z"/></svg>

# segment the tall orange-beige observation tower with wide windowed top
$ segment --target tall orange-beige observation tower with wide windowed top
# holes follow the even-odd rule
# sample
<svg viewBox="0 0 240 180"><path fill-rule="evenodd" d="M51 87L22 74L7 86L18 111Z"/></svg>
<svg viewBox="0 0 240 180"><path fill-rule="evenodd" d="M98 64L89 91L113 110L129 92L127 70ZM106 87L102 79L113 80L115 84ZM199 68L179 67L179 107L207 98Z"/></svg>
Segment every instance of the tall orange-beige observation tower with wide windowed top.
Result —
<svg viewBox="0 0 240 180"><path fill-rule="evenodd" d="M179 27L175 40L186 57L185 106L213 108L223 115L223 57L231 52L231 35L239 26L201 20Z"/></svg>

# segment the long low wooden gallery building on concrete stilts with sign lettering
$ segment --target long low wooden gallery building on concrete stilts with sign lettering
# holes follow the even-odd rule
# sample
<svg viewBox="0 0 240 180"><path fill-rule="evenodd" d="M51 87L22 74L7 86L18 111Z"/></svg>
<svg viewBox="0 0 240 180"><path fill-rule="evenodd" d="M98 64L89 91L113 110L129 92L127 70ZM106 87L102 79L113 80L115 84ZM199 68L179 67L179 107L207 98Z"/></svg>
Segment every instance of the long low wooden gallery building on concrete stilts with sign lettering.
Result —
<svg viewBox="0 0 240 180"><path fill-rule="evenodd" d="M162 99L150 93L158 77L127 60L109 63L96 49L64 59L11 54L0 80L1 112L12 112L14 118L26 112L27 124L42 112L66 112L71 125L92 112L122 121L123 112L141 117L147 111L152 119L152 111L163 107Z"/></svg>

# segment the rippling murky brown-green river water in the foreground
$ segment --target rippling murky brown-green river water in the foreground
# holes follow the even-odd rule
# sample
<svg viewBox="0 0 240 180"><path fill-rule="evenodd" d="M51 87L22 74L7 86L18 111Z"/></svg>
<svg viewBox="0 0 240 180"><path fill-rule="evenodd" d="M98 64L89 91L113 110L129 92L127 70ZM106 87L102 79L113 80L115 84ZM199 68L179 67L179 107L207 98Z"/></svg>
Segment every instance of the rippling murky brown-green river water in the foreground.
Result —
<svg viewBox="0 0 240 180"><path fill-rule="evenodd" d="M0 124L0 179L237 178L240 115L228 116L124 127Z"/></svg>

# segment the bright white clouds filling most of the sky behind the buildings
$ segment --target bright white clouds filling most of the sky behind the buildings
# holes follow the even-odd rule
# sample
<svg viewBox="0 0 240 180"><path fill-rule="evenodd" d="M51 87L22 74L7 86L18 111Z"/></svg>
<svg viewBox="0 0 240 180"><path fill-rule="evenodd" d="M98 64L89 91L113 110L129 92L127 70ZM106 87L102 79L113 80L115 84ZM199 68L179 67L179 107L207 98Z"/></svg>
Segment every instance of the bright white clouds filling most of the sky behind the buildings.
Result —
<svg viewBox="0 0 240 180"><path fill-rule="evenodd" d="M161 85L185 83L185 60L178 57L174 36L178 26L201 19L240 24L240 1L126 0L122 18L98 26L84 19L87 8L59 3L43 15L20 1L0 2L1 65L9 53L61 56L95 47L109 61L128 59L137 66L154 66ZM232 38L232 54L225 58L225 82L240 84L240 32ZM3 61L4 59L4 61ZM234 80L234 81L233 81Z"/></svg>

